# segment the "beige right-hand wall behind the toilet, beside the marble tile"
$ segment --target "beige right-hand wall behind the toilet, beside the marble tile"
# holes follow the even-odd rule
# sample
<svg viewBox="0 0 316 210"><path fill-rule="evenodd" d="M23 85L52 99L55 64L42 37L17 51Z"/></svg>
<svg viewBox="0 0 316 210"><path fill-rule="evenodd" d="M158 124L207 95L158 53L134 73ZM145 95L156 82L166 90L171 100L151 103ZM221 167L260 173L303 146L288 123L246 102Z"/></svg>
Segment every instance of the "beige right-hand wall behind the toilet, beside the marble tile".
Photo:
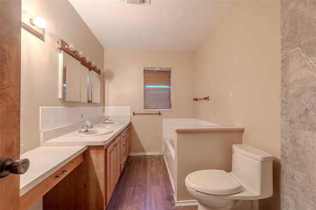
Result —
<svg viewBox="0 0 316 210"><path fill-rule="evenodd" d="M244 127L242 142L275 156L274 196L280 208L280 1L240 1L195 53L196 118Z"/></svg>

